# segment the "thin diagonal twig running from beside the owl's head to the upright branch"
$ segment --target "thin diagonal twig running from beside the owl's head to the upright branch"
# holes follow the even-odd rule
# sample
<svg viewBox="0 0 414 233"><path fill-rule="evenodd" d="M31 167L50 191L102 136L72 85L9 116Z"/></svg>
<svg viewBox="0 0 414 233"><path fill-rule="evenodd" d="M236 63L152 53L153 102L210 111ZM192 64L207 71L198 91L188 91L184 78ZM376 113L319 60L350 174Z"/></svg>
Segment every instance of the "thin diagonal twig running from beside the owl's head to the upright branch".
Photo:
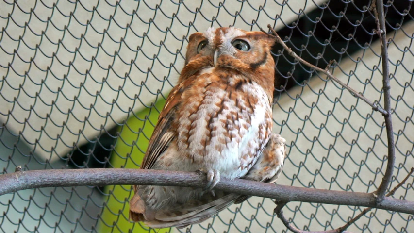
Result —
<svg viewBox="0 0 414 233"><path fill-rule="evenodd" d="M281 44L283 46L283 48L288 52L288 54L292 57L294 57L298 62L306 65L307 67L311 67L312 69L315 69L318 72L324 73L325 75L327 75L330 79L332 79L333 81L335 81L336 83L339 83L342 87L344 87L345 89L347 89L349 92L352 93L353 96L363 100L365 103L369 104L369 106L372 107L372 109L374 111L378 111L380 112L383 116L388 115L388 112L385 111L383 108L381 108L380 106L378 106L377 104L371 102L371 100L368 100L366 97L364 97L364 95L362 95L361 93L358 93L357 91L355 91L354 89L352 89L350 86L348 86L347 84L343 83L341 80L339 80L338 78L336 78L335 76L333 76L329 70L325 70L325 69L321 69L319 67L316 67L312 64L310 64L309 62L303 60L301 57L299 57L294 51L292 51L292 49L290 49L281 39L281 37L278 35L278 33L276 33L276 31L272 28L272 26L269 24L267 25L267 27L269 28L269 30L273 33L273 36L275 37L276 41ZM263 29L261 29L262 32L266 33Z"/></svg>

